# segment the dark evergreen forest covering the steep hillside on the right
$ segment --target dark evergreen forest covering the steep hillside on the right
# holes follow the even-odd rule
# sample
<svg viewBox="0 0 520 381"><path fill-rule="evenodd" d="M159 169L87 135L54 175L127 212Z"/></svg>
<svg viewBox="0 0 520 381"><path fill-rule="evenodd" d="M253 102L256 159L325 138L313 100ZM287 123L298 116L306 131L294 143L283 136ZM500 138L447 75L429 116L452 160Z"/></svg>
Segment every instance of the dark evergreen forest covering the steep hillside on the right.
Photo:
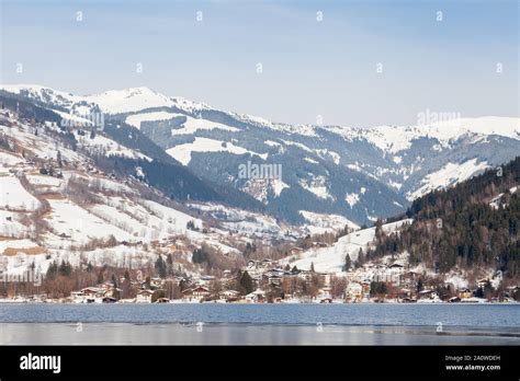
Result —
<svg viewBox="0 0 520 381"><path fill-rule="evenodd" d="M385 234L376 223L374 247L365 258L407 251L419 263L445 273L491 267L505 277L520 275L520 157L454 187L416 199L406 212L411 224ZM512 192L511 192L512 189Z"/></svg>

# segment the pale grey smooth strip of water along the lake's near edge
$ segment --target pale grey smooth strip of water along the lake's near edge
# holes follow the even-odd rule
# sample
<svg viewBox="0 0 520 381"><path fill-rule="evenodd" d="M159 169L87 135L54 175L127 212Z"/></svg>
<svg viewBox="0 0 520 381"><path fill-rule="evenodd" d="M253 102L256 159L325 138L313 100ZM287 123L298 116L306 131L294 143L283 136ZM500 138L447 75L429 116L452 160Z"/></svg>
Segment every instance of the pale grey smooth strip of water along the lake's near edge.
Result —
<svg viewBox="0 0 520 381"><path fill-rule="evenodd" d="M515 328L206 324L4 323L1 345L520 345Z"/></svg>

